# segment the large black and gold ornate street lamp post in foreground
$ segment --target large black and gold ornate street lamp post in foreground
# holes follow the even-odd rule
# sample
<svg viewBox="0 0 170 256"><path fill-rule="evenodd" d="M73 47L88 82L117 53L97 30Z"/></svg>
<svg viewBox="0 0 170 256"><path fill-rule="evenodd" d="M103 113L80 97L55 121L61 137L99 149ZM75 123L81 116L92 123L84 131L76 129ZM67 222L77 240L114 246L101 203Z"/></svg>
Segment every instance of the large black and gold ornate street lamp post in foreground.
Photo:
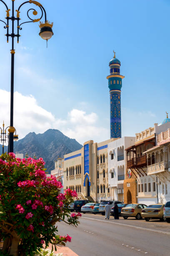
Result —
<svg viewBox="0 0 170 256"><path fill-rule="evenodd" d="M7 5L4 1L0 0L0 2L2 2L5 5L5 8L7 9L6 10L6 17L5 17L6 22L3 21L3 20L0 20L3 23L5 23L4 28L7 29L7 33L5 35L7 37L7 43L8 43L9 37L12 38L12 49L10 50L10 53L11 53L11 93L10 93L10 127L8 129L8 132L9 132L9 152L13 152L13 137L14 137L14 132L15 132L15 128L13 127L14 54L15 54L14 38L16 37L17 38L17 43L19 43L19 38L20 38L19 31L22 30L21 25L23 25L24 23L38 22L42 19L43 15L45 16L45 23L40 22L40 25L39 25L40 26L40 33L39 33L39 35L42 39L45 39L45 40L50 39L53 35L53 32L52 32L53 23L50 23L47 20L45 9L40 3L38 3L37 1L34 1L34 0L29 0L29 1L26 1L26 2L22 3L19 6L18 10L15 10L14 1L15 0L12 0L12 16L10 17L10 9L7 7ZM27 4L27 3L30 3L30 4L33 3L33 4L35 4L36 6L38 6L40 8L40 18L38 18L38 19L30 18L30 11L31 10L32 10L33 15L37 15L37 11L33 8L30 8L27 12L27 16L30 19L30 21L20 23L20 8L23 5ZM14 16L14 11L16 11L17 17ZM9 20L12 21L12 33L9 33ZM17 34L14 33L15 21L17 21L17 27L16 27L17 28Z"/></svg>

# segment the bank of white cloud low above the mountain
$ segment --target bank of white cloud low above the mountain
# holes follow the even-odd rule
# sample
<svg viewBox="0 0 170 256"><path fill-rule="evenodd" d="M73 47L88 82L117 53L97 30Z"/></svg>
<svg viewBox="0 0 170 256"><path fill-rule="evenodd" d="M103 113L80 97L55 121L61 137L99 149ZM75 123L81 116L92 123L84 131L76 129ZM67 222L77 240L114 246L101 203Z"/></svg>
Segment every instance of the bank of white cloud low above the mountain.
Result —
<svg viewBox="0 0 170 256"><path fill-rule="evenodd" d="M0 90L0 112L2 126L10 124L10 92ZM35 97L24 96L19 92L14 93L14 127L19 138L23 138L29 132L43 133L47 129L60 130L66 136L75 138L78 142L84 143L93 139L102 141L109 138L109 131L98 125L96 113L86 113L83 110L72 109L67 118L55 118L52 113L40 107Z"/></svg>

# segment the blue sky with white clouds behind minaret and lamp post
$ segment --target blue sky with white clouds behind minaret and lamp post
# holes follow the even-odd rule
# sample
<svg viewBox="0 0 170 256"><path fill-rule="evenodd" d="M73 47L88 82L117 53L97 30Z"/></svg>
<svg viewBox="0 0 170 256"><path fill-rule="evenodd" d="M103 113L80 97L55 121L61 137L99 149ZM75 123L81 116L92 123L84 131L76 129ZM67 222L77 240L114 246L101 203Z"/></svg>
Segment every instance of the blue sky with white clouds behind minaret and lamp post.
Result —
<svg viewBox="0 0 170 256"><path fill-rule="evenodd" d="M113 49L125 75L122 136L135 136L163 121L165 111L170 112L169 0L40 2L54 23L48 48L38 35L38 23L24 24L20 43L15 42L14 126L20 138L48 128L80 143L110 138L106 76ZM6 3L10 6L11 0ZM16 9L20 3L15 1ZM34 7L25 5L22 22ZM0 4L0 19L4 15ZM8 125L11 42L6 43L3 24L0 33L0 122Z"/></svg>

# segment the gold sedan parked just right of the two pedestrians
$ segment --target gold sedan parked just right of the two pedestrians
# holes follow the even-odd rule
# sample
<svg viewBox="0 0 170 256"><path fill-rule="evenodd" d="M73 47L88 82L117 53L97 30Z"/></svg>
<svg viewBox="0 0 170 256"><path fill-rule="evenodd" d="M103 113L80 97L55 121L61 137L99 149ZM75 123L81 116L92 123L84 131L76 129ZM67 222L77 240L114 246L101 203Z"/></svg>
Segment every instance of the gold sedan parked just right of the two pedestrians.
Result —
<svg viewBox="0 0 170 256"><path fill-rule="evenodd" d="M147 205L144 204L128 204L122 208L121 216L126 220L128 217L135 217L137 220L142 219L141 213Z"/></svg>

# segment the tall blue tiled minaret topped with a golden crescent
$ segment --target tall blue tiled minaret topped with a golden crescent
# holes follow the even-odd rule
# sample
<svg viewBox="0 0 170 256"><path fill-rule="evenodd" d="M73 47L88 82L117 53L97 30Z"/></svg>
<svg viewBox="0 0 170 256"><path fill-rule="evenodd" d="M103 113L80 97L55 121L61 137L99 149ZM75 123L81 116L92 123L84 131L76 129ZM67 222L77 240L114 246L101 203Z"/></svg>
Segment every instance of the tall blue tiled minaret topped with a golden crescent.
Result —
<svg viewBox="0 0 170 256"><path fill-rule="evenodd" d="M110 138L121 138L121 88L120 61L114 57L109 62L110 75L107 76L110 92Z"/></svg>

